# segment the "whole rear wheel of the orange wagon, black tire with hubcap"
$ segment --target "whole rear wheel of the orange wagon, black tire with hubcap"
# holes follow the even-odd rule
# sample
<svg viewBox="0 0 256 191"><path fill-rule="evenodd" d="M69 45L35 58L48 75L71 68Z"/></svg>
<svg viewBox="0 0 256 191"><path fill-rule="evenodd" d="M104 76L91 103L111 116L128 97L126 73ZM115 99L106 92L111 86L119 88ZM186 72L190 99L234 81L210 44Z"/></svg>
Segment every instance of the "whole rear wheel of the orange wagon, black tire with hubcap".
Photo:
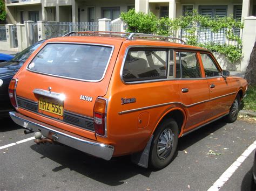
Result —
<svg viewBox="0 0 256 191"><path fill-rule="evenodd" d="M170 137L171 133L172 138ZM166 119L163 123L159 124L154 132L154 137L150 148L149 165L151 168L158 170L170 164L177 149L178 135L179 128L174 119ZM167 136L167 139L165 136ZM165 151L161 153L160 150Z"/></svg>

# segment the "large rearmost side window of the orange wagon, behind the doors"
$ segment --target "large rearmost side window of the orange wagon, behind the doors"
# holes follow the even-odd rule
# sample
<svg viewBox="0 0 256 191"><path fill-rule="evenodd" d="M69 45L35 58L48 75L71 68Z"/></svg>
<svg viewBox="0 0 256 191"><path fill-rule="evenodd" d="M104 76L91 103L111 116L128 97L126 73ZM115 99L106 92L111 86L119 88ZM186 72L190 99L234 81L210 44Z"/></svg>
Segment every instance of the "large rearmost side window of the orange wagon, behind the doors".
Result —
<svg viewBox="0 0 256 191"><path fill-rule="evenodd" d="M167 56L166 49L131 48L124 63L124 81L166 79Z"/></svg>

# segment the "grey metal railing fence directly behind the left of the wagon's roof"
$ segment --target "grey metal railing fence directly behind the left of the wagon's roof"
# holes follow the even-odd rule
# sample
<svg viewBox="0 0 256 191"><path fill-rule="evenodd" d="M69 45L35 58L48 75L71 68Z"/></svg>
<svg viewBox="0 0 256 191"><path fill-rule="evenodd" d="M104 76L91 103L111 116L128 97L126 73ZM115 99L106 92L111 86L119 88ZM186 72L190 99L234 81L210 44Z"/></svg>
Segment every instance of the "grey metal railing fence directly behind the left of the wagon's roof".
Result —
<svg viewBox="0 0 256 191"><path fill-rule="evenodd" d="M44 23L46 39L62 37L71 31L98 31L99 23L69 23L69 22L46 22Z"/></svg>

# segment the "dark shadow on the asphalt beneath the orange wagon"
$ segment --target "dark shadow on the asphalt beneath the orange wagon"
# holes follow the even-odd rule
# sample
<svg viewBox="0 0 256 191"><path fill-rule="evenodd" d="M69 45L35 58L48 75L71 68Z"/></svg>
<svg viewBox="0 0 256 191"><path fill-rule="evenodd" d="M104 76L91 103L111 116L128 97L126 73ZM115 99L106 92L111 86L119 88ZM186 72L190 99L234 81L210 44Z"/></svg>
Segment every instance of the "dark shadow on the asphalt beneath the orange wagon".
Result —
<svg viewBox="0 0 256 191"><path fill-rule="evenodd" d="M222 128L226 123L219 120L204 128L197 130L180 139L178 150L193 145L199 140L207 137L212 132ZM69 168L71 171L83 174L88 178L105 183L110 186L118 186L125 183L125 180L142 174L150 177L151 169L145 169L134 165L130 161L130 156L113 158L110 161L91 157L83 152L63 145L32 145L32 150L43 155L43 158L49 158L60 166L53 168L53 172L62 171L62 169ZM176 155L177 156L176 152ZM40 160L40 159L38 159ZM175 160L175 159L174 159Z"/></svg>

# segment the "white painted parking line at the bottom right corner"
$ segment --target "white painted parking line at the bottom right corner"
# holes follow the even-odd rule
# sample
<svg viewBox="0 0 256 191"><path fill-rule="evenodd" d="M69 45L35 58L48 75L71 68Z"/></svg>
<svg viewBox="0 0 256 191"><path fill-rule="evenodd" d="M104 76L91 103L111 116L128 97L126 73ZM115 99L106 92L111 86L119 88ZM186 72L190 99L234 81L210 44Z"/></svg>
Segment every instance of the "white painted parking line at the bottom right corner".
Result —
<svg viewBox="0 0 256 191"><path fill-rule="evenodd" d="M228 181L228 179L230 179L232 174L234 174L234 172L238 169L238 167L242 164L242 162L245 161L248 155L250 155L255 148L256 148L256 141L253 144L251 144L245 150L245 152L243 152L240 155L240 157L238 157L238 159L235 160L233 164L226 169L226 171L223 174L221 174L220 178L213 183L213 186L209 188L208 191L219 190L224 185L224 183Z"/></svg>

